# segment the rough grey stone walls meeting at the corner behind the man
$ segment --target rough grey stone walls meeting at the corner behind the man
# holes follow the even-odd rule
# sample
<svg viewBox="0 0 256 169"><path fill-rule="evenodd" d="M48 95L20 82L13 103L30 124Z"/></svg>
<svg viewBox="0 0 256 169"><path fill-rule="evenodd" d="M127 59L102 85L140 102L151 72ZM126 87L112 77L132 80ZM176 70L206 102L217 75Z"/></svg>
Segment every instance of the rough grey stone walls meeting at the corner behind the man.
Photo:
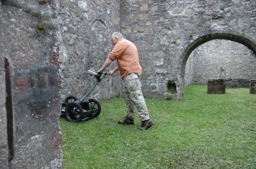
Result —
<svg viewBox="0 0 256 169"><path fill-rule="evenodd" d="M173 79L177 82L173 97L182 99L186 59L209 40L233 40L256 50L254 1L127 0L120 7L119 1L60 4L62 100L68 94L80 97L92 85L86 70L99 69L112 49L112 30L121 30L138 46L145 97L164 97L167 81ZM92 97L118 96L119 81L115 75L105 88L96 88Z"/></svg>

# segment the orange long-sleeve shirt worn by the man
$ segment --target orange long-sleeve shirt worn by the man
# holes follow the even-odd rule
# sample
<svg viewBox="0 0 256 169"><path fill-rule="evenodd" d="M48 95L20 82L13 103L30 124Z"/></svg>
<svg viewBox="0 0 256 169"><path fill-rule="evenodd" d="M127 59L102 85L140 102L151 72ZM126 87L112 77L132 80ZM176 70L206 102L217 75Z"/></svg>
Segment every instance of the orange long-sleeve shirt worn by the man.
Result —
<svg viewBox="0 0 256 169"><path fill-rule="evenodd" d="M117 60L118 70L122 79L130 73L141 73L141 65L139 62L138 49L129 40L120 40L115 44L112 52L109 53L109 59Z"/></svg>

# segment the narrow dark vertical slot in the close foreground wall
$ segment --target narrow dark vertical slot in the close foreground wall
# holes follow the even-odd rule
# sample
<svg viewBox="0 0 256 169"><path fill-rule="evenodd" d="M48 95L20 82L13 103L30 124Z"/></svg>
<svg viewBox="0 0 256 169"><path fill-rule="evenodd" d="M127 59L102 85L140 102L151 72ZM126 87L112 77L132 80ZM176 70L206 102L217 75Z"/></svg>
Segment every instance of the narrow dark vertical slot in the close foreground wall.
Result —
<svg viewBox="0 0 256 169"><path fill-rule="evenodd" d="M5 58L5 90L6 90L6 114L7 114L7 138L8 138L8 159L12 160L14 155L14 137L13 137L13 112L11 96L11 66L8 59Z"/></svg>

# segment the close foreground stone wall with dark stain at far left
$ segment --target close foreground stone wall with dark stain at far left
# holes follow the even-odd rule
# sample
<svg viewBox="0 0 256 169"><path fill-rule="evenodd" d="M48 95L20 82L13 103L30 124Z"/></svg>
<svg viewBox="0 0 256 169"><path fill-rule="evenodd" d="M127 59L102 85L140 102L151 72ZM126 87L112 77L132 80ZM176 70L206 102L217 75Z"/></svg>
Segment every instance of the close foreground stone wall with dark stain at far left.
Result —
<svg viewBox="0 0 256 169"><path fill-rule="evenodd" d="M6 61L10 70L8 78L1 72L1 168L62 167L57 3L50 2L0 5L0 65Z"/></svg>

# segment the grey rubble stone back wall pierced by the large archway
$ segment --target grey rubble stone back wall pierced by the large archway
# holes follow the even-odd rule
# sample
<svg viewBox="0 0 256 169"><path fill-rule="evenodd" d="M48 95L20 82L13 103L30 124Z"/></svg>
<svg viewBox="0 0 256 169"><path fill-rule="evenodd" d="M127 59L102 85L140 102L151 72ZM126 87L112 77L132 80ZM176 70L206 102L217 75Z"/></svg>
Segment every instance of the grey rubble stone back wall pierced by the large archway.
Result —
<svg viewBox="0 0 256 169"><path fill-rule="evenodd" d="M256 53L255 7L253 0L122 2L122 32L141 53L144 95L163 96L171 78L172 96L182 99L186 60L209 40L233 40Z"/></svg>

